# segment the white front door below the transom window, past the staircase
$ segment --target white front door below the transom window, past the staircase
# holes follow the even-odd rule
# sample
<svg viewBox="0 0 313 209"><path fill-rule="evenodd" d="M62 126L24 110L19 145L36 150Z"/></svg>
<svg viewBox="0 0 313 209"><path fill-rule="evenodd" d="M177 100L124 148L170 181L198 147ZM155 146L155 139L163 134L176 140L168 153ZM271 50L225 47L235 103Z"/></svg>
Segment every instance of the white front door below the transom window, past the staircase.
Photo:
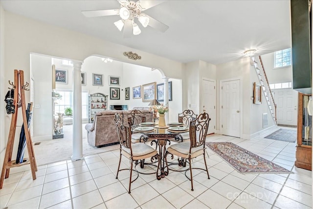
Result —
<svg viewBox="0 0 313 209"><path fill-rule="evenodd" d="M275 89L274 101L277 105L277 124L297 125L298 93L293 89Z"/></svg>

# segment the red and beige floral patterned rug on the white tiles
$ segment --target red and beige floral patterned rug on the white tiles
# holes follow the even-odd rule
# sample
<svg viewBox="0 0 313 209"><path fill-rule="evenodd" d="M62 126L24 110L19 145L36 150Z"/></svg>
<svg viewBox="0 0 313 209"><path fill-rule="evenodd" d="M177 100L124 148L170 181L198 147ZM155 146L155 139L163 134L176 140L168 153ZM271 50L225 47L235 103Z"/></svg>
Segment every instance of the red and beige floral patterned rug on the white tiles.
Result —
<svg viewBox="0 0 313 209"><path fill-rule="evenodd" d="M292 173L232 142L206 142L205 144L240 173Z"/></svg>

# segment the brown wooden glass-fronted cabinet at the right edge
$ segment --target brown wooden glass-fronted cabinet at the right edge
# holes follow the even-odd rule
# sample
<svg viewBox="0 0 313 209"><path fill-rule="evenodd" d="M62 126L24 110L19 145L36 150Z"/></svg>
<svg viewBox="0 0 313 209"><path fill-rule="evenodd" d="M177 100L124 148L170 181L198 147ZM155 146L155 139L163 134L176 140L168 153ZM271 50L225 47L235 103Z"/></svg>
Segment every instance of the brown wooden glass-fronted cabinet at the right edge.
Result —
<svg viewBox="0 0 313 209"><path fill-rule="evenodd" d="M312 116L308 103L311 95L299 93L296 161L299 168L312 170ZM310 113L312 114L312 113Z"/></svg>

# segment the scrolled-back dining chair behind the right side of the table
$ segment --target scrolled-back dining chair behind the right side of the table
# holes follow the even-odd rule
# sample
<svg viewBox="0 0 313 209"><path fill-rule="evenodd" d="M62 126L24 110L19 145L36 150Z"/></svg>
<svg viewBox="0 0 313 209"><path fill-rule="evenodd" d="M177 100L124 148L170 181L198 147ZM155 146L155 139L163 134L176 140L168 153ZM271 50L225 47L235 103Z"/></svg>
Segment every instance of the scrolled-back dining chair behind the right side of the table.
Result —
<svg viewBox="0 0 313 209"><path fill-rule="evenodd" d="M178 114L178 122L183 123L185 127L189 127L192 121L195 121L197 118L192 110L184 110L182 113ZM183 142L184 140L190 139L189 132L181 133L178 137L169 139L171 141Z"/></svg>

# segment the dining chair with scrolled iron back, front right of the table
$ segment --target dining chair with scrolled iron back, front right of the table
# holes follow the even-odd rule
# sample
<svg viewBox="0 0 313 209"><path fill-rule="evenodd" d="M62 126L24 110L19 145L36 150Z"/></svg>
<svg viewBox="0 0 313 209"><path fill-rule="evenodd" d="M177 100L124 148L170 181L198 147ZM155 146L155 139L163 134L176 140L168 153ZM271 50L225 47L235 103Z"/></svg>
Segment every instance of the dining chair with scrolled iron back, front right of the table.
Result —
<svg viewBox="0 0 313 209"><path fill-rule="evenodd" d="M189 126L189 136L190 140L183 141L181 143L176 143L170 145L167 148L165 154L165 161L167 163L167 155L170 154L171 158L178 156L182 159L188 159L189 169L184 170L185 176L191 181L191 190L193 191L193 177L192 177L192 169L201 169L205 170L207 173L208 179L210 179L209 171L207 169L206 161L205 161L205 138L209 126L209 115L207 113L200 114L195 120L192 120ZM200 155L203 155L205 169L203 168L192 168L191 159L194 159ZM190 178L187 176L187 171L190 170ZM177 170L181 171L181 170Z"/></svg>

